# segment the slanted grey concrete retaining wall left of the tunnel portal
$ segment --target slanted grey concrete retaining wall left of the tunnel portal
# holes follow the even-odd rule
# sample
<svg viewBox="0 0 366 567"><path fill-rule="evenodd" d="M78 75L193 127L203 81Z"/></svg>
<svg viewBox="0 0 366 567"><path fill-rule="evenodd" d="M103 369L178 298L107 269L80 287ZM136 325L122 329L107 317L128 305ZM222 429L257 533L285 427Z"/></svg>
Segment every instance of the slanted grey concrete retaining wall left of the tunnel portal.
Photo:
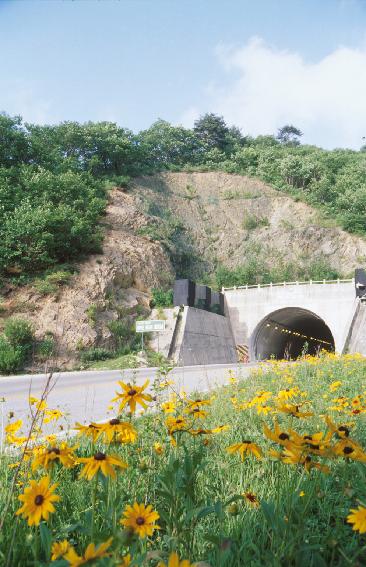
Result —
<svg viewBox="0 0 366 567"><path fill-rule="evenodd" d="M184 307L173 340L171 356L180 366L237 362L230 322L222 315Z"/></svg>

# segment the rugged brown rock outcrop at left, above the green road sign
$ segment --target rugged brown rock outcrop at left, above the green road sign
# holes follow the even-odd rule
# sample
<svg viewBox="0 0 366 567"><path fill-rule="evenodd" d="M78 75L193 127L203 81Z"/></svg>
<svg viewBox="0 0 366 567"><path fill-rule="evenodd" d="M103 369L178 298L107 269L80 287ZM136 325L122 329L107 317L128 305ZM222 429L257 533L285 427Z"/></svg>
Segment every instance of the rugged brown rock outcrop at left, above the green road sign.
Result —
<svg viewBox="0 0 366 567"><path fill-rule="evenodd" d="M109 346L107 325L117 319L116 305L148 307L150 289L172 280L172 267L161 245L135 234L147 222L132 196L113 190L103 223L102 254L81 263L79 273L57 296L43 297L34 288L8 294L10 313L16 307L19 317L34 322L40 337L53 333L59 365L69 366L77 348ZM35 309L30 312L32 305Z"/></svg>

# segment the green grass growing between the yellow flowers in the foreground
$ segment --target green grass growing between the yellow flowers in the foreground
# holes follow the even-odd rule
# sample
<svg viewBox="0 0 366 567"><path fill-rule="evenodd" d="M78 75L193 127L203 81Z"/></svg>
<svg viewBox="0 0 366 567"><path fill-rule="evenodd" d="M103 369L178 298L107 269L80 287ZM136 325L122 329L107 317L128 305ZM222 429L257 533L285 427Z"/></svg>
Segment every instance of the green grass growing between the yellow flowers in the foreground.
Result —
<svg viewBox="0 0 366 567"><path fill-rule="evenodd" d="M273 362L254 370L246 380L231 374L227 386L202 398L197 394L187 399L170 380L168 370L151 378L154 399L148 404L154 411L142 417L129 414L126 408L120 411L120 418L137 430L135 443L105 445L81 437L74 450L77 458L101 451L127 462L128 468L117 473L116 480L101 475L87 481L79 477L81 464L68 469L55 464L50 474L59 483L56 491L61 496L56 513L49 522L29 528L19 516L14 517L20 505L17 495L29 482L29 461L20 465L20 483L16 482L4 516L0 564L48 565L51 542L67 539L81 555L91 541L100 544L109 537L113 537L111 555L98 565L128 565L121 558L130 553L131 566L155 567L159 561L168 564L173 550L181 559L204 562L202 567L366 563L365 535L353 531L347 522L351 508L366 505L366 464L362 462L366 457L362 450L359 460L336 456L342 439L325 422L329 416L338 426L347 425L346 444L350 439L365 443L364 358L324 355L291 365ZM207 404L202 405L201 399ZM192 410L197 407L204 413L196 419ZM115 410L117 415L118 403ZM299 412L300 417L294 417ZM180 419L183 425L178 425ZM301 436L330 432L329 447L311 448L302 438L299 462L286 463L284 447L264 435L264 425L273 430L275 419L280 431L291 436L292 430ZM218 426L227 428L214 432ZM228 453L228 447L243 441L258 446L262 458L248 454L242 462L238 453ZM70 446L75 445L75 440L70 441ZM278 458L271 450L279 452ZM305 455L311 455L311 461L305 461ZM13 460L2 457L1 509L11 492L15 473L8 464ZM305 463L310 462L329 471L307 470ZM38 468L31 477L44 474ZM251 504L253 496L256 506ZM160 529L147 539L119 523L123 510L135 501L151 504L160 515ZM65 560L52 563L69 564Z"/></svg>

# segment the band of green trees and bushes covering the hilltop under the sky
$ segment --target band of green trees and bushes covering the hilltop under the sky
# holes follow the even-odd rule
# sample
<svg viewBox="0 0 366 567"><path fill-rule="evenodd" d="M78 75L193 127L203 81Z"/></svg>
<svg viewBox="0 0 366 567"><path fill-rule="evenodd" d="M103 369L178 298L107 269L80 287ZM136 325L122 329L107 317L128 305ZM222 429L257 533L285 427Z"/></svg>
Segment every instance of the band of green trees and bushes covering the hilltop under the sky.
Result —
<svg viewBox="0 0 366 567"><path fill-rule="evenodd" d="M365 148L324 150L301 135L289 124L252 138L215 114L192 129L158 120L137 134L110 122L40 126L0 114L0 272L33 274L99 251L106 182L164 170L256 176L365 234Z"/></svg>

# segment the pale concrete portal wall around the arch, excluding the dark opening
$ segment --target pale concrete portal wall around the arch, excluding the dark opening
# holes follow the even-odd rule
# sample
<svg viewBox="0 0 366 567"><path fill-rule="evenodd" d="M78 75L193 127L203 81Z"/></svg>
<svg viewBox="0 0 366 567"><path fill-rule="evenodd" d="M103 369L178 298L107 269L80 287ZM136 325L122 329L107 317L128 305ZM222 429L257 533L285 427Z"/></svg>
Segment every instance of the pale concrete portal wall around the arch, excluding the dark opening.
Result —
<svg viewBox="0 0 366 567"><path fill-rule="evenodd" d="M343 351L357 305L353 282L225 290L225 304L236 344L249 345L258 323L273 311L300 307L324 320L336 352Z"/></svg>

